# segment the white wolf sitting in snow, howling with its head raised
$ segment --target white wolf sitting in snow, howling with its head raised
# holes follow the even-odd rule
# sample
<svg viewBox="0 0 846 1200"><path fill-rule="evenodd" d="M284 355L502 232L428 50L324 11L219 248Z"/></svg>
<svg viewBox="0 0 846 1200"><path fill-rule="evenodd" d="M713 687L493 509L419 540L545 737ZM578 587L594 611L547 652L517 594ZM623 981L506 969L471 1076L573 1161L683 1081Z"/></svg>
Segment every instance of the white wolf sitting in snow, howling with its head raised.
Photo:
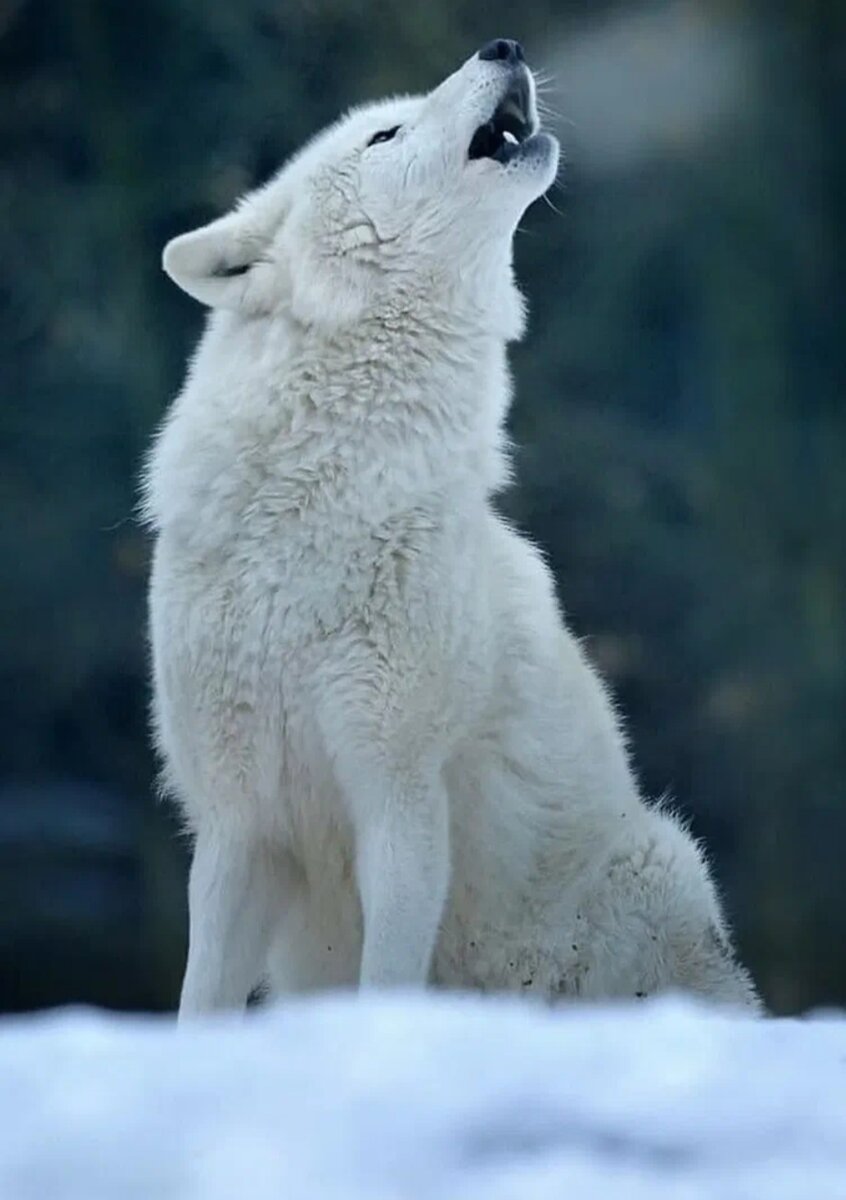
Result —
<svg viewBox="0 0 846 1200"><path fill-rule="evenodd" d="M348 114L164 269L211 306L155 444L155 724L194 835L182 1014L336 985L755 1008L638 797L508 478L516 42Z"/></svg>

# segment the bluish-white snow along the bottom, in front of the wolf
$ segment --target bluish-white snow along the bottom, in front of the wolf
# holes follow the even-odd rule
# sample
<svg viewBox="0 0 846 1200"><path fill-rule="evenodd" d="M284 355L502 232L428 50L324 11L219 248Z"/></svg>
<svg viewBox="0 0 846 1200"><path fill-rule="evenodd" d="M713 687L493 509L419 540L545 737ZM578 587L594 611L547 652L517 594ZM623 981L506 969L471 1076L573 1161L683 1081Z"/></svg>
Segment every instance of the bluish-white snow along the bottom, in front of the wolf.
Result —
<svg viewBox="0 0 846 1200"><path fill-rule="evenodd" d="M846 1019L334 996L0 1024L2 1200L838 1200Z"/></svg>

